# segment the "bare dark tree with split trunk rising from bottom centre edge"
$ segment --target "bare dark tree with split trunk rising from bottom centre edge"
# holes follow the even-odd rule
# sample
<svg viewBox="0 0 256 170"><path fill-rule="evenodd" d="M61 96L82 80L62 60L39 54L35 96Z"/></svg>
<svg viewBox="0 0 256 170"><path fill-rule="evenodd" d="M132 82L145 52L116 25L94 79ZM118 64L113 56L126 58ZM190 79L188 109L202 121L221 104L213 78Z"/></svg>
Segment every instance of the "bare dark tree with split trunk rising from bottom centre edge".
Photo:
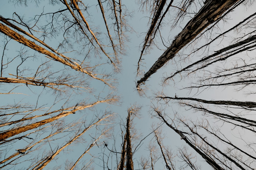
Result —
<svg viewBox="0 0 256 170"><path fill-rule="evenodd" d="M118 170L134 169L133 155L134 152L136 152L137 147L141 145L141 142L138 142L140 139L137 136L133 121L135 117L140 116L140 109L141 107L137 106L136 104L127 109L127 117L125 121L121 121L122 123L120 123L119 133L121 133L121 142L117 142L119 139L115 137L116 133L113 133L113 136L111 136L109 139L110 142L104 141L104 146L102 148L102 152L104 154L102 158L103 168L114 168ZM118 126L114 127L113 129L117 127ZM114 142L111 142L113 140Z"/></svg>

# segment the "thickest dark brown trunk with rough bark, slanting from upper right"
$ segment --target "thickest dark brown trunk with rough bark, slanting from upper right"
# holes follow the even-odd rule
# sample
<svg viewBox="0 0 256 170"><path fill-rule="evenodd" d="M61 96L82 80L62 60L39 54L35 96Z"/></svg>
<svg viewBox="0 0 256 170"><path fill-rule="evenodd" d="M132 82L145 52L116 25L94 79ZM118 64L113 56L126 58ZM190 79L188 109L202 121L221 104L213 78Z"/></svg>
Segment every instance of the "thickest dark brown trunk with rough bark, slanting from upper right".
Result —
<svg viewBox="0 0 256 170"><path fill-rule="evenodd" d="M214 23L226 10L238 0L230 1L208 1L191 19L185 28L175 37L170 47L162 54L146 74L137 81L137 87L145 82L152 74L160 69L166 62L172 59L180 49L192 41L206 27Z"/></svg>

